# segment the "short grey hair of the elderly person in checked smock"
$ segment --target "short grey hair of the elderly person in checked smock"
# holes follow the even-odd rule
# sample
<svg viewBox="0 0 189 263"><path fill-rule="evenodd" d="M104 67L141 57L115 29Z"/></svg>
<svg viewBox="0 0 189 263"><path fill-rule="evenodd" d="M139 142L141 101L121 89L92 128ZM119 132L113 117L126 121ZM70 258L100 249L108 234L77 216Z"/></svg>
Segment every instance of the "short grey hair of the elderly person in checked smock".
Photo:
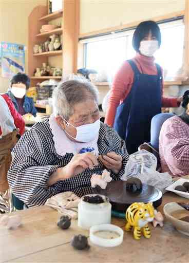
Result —
<svg viewBox="0 0 189 263"><path fill-rule="evenodd" d="M92 99L98 105L98 93L96 86L84 78L62 82L53 90L53 113L69 120L75 104L83 103L85 106L85 101Z"/></svg>

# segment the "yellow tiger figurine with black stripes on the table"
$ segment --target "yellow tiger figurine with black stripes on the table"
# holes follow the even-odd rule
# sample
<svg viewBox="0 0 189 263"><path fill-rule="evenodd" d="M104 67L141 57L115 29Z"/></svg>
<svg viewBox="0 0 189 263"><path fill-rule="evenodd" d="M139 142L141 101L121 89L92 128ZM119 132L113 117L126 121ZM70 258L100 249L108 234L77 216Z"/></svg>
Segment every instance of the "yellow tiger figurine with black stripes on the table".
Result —
<svg viewBox="0 0 189 263"><path fill-rule="evenodd" d="M133 203L131 204L125 214L127 223L126 231L134 228L134 238L141 238L141 231L145 238L150 238L151 233L148 228L148 222L152 222L156 214L156 210L152 203Z"/></svg>

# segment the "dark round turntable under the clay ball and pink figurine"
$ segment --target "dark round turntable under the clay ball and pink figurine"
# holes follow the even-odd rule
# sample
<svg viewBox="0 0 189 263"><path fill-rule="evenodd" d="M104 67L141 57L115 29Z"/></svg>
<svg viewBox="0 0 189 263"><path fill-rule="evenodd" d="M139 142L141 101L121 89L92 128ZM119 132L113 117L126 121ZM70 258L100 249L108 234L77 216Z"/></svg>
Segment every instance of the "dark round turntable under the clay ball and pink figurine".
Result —
<svg viewBox="0 0 189 263"><path fill-rule="evenodd" d="M142 191L130 193L126 190L126 181L111 181L106 189L95 187L93 193L107 196L112 210L123 213L134 202L153 202L155 208L162 202L162 192L156 187L143 184Z"/></svg>

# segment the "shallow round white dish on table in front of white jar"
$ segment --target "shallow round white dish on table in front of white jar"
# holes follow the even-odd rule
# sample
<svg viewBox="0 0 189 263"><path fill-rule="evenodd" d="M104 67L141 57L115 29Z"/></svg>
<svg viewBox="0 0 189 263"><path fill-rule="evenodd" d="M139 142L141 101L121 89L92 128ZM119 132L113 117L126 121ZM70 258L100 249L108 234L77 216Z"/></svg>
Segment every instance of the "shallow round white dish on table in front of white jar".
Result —
<svg viewBox="0 0 189 263"><path fill-rule="evenodd" d="M94 235L94 233L98 231L116 232L120 236L117 238L106 239ZM97 226L93 226L90 228L90 241L94 245L98 245L101 247L106 247L106 248L117 247L121 245L121 243L123 242L123 234L124 234L123 230L117 226L114 226L114 224L98 224Z"/></svg>

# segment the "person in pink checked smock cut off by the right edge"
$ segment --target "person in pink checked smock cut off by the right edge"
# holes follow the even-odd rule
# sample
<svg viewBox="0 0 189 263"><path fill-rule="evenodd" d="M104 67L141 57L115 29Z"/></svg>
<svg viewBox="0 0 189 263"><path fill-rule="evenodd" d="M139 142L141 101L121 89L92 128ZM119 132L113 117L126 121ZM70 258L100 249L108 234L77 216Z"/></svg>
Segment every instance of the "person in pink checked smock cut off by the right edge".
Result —
<svg viewBox="0 0 189 263"><path fill-rule="evenodd" d="M189 174L189 90L184 93L182 107L182 115L163 123L159 137L162 172L173 177Z"/></svg>

